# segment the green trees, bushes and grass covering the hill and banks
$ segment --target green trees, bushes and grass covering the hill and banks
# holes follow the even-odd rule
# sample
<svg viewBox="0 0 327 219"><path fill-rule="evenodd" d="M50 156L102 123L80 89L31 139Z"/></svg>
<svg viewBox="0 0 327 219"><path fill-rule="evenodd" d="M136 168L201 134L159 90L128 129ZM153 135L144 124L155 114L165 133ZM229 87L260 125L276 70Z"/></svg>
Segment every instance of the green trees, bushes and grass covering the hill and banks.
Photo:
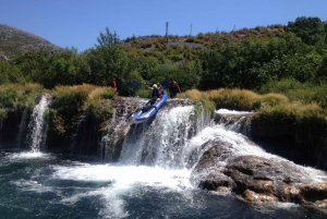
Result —
<svg viewBox="0 0 327 219"><path fill-rule="evenodd" d="M279 135L299 144L313 145L327 133L326 21L298 17L284 26L168 37L168 42L157 35L120 40L107 27L95 48L82 53L75 48L29 50L0 61L0 89L28 83L53 89L50 118L59 134L71 132L85 110L100 122L110 117L111 105L104 99L117 95L106 88L113 77L119 95L140 97L149 95L144 83L173 77L184 92L179 97L205 101L208 108L214 102L216 108L255 110L254 123L270 131L279 126ZM0 119L25 106L28 98L15 89L21 88L0 90Z"/></svg>

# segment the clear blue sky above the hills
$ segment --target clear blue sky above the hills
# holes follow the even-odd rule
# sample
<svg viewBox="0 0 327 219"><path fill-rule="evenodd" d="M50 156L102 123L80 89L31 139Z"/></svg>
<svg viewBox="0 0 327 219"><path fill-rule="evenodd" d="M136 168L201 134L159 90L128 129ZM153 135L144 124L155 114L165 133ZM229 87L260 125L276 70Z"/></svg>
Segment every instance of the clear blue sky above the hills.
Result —
<svg viewBox="0 0 327 219"><path fill-rule="evenodd" d="M82 52L100 33L128 37L193 35L287 25L300 16L327 21L327 0L0 0L0 24Z"/></svg>

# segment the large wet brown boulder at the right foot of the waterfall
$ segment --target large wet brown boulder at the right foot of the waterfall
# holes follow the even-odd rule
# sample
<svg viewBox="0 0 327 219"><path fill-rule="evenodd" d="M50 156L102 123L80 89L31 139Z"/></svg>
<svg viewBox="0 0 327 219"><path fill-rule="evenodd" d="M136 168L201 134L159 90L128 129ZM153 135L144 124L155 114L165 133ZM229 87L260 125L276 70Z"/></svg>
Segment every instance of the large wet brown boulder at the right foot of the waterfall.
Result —
<svg viewBox="0 0 327 219"><path fill-rule="evenodd" d="M291 161L254 155L235 156L217 141L201 158L192 178L204 190L230 190L250 203L292 202L327 207L327 181L315 182Z"/></svg>

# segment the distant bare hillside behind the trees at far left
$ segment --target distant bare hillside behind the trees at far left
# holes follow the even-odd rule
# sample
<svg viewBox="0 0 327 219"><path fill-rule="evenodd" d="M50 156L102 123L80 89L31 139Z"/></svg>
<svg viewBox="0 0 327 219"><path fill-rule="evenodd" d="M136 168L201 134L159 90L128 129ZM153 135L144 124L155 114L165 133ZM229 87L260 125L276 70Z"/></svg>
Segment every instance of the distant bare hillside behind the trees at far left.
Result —
<svg viewBox="0 0 327 219"><path fill-rule="evenodd" d="M12 59L31 49L58 50L60 47L27 32L0 24L0 57Z"/></svg>

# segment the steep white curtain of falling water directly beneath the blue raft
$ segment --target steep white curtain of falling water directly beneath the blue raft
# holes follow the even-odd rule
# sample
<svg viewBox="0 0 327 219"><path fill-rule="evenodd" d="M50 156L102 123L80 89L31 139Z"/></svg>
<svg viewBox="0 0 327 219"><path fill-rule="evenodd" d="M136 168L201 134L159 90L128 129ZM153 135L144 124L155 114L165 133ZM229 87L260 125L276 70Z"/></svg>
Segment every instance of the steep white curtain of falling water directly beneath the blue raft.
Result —
<svg viewBox="0 0 327 219"><path fill-rule="evenodd" d="M161 109L154 120L131 126L120 162L182 168L184 145L192 135L193 106Z"/></svg>

